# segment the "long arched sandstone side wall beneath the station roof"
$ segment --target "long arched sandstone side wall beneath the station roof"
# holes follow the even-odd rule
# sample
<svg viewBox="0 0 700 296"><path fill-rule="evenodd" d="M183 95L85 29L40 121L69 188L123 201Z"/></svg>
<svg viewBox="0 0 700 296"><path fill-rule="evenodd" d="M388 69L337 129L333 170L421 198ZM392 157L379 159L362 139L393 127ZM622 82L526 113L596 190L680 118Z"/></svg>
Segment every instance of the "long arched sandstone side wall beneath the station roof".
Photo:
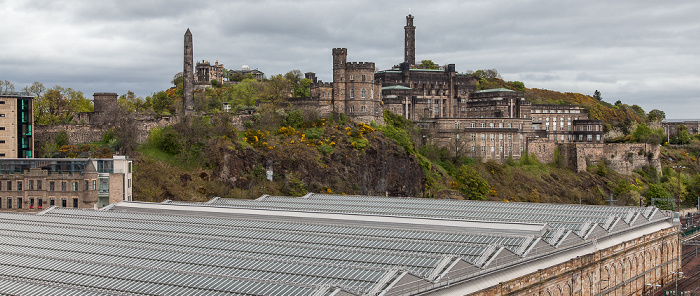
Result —
<svg viewBox="0 0 700 296"><path fill-rule="evenodd" d="M672 283L680 254L678 230L667 228L470 295L650 295L646 284Z"/></svg>

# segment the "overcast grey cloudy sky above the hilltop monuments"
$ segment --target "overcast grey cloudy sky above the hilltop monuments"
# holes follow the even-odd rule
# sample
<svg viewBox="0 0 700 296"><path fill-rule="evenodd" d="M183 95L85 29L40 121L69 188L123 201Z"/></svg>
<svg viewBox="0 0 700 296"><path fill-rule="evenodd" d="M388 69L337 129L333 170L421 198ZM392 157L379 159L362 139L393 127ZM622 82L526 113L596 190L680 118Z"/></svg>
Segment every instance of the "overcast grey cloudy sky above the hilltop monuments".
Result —
<svg viewBox="0 0 700 296"><path fill-rule="evenodd" d="M330 81L334 47L401 62L409 8L418 61L700 118L697 0L0 0L0 80L147 96L182 71L190 28L195 60Z"/></svg>

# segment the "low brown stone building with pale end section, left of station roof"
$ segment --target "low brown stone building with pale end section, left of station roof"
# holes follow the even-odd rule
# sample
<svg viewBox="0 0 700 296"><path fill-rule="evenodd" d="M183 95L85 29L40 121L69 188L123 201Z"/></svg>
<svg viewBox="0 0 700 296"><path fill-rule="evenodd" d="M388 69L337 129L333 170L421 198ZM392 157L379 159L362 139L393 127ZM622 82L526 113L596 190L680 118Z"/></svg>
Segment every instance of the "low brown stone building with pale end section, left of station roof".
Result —
<svg viewBox="0 0 700 296"><path fill-rule="evenodd" d="M102 208L132 199L132 162L113 158L0 160L0 209Z"/></svg>

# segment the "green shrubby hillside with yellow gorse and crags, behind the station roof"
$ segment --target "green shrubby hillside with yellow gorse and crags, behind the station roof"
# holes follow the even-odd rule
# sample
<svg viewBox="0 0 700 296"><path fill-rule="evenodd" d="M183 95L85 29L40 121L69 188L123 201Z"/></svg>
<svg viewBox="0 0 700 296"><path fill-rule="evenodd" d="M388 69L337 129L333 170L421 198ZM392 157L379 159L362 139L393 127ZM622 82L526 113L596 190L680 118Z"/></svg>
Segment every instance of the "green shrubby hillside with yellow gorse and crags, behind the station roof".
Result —
<svg viewBox="0 0 700 296"><path fill-rule="evenodd" d="M381 127L298 110L275 114L245 131L216 117L155 130L135 157L134 198L203 201L328 192L606 204L613 194L617 205L636 205L640 195L648 203L649 196L676 192L672 170L623 176L605 165L575 173L529 157L506 164L454 158L446 149L417 145L410 121L391 113ZM664 151L697 168L694 158L683 158L686 150ZM266 179L268 168L272 181ZM688 196L700 192L700 178L690 172L681 179Z"/></svg>

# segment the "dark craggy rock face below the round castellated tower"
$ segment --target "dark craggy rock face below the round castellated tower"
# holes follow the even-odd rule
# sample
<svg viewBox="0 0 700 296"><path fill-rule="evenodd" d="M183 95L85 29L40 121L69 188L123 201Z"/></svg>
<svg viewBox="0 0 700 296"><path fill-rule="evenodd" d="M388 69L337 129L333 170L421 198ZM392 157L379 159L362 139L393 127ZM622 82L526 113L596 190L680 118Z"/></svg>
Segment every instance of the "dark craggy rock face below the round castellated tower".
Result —
<svg viewBox="0 0 700 296"><path fill-rule="evenodd" d="M235 188L264 186L268 194L300 195L332 192L389 196L420 196L425 175L418 160L379 132L368 134L369 145L358 149L343 140L342 129L327 128L323 138L338 141L331 153L308 143L278 142L266 148L236 144L219 147L213 178ZM345 142L343 142L345 141ZM245 146L245 147L244 147ZM272 147L272 148L270 148ZM273 171L273 182L265 180Z"/></svg>

